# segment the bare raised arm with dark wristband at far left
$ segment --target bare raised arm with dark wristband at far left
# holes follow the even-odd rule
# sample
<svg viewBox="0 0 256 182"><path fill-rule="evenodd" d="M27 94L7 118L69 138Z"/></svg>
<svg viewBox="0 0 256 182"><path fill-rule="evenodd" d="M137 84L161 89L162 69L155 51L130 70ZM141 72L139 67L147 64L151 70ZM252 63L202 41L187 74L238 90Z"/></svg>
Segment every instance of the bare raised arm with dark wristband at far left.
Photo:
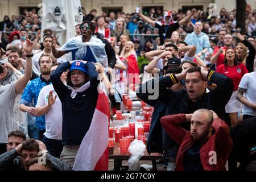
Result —
<svg viewBox="0 0 256 182"><path fill-rule="evenodd" d="M25 51L26 55L32 54L32 47L33 47L33 42L27 39L26 46L23 47L23 50ZM25 73L22 77L20 77L15 82L15 92L16 93L21 92L27 85L27 82L30 81L31 77L32 77L32 57L26 57Z"/></svg>

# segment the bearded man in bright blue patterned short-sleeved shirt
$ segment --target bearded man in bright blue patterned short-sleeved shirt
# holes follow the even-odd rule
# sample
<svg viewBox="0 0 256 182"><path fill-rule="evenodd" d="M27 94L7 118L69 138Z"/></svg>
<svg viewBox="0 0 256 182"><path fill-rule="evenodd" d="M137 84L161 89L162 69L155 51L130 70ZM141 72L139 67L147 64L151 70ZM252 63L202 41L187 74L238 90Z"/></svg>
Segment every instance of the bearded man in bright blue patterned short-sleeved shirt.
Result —
<svg viewBox="0 0 256 182"><path fill-rule="evenodd" d="M26 112L30 115L35 116L35 107L28 106L32 101L34 101L34 106L38 101L38 96L40 90L46 86L51 84L50 74L52 64L55 63L55 58L48 53L43 53L39 59L40 65L40 75L39 78L36 78L30 82L28 82L20 100L20 110ZM46 120L44 115L41 117L36 117L36 126L39 130L39 139L43 139L43 134L46 131Z"/></svg>

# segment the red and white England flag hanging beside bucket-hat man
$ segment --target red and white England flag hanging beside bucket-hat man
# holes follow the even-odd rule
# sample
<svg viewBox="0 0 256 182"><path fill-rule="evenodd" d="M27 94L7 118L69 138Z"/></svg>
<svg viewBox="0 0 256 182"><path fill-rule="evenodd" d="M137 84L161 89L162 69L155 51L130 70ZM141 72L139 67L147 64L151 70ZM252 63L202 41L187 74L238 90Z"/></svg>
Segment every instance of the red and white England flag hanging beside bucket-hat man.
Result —
<svg viewBox="0 0 256 182"><path fill-rule="evenodd" d="M73 170L108 171L109 119L109 99L104 85L100 83L92 123L84 139L82 139Z"/></svg>

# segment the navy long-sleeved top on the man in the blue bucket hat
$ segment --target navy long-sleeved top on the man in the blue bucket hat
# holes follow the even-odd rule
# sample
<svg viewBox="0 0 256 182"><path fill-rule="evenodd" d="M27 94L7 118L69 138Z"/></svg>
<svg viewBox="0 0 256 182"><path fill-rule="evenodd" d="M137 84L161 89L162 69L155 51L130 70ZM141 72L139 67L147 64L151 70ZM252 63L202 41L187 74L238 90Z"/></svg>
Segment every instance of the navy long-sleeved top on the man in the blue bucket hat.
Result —
<svg viewBox="0 0 256 182"><path fill-rule="evenodd" d="M53 88L62 104L62 138L63 144L66 145L81 144L89 130L97 103L97 86L100 83L97 80L98 73L93 63L88 62L85 66L90 78L90 88L77 93L75 98L71 97L72 91L60 80L61 74L67 71L71 64L69 62L63 63L51 74Z"/></svg>

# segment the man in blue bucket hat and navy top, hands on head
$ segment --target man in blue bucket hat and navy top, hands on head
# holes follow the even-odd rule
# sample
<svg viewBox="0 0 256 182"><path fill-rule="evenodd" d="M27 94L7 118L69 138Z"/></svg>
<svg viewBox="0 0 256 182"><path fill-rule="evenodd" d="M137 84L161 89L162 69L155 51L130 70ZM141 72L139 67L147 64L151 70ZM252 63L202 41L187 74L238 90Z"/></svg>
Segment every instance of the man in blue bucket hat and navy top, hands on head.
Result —
<svg viewBox="0 0 256 182"><path fill-rule="evenodd" d="M61 74L69 69L67 86L60 80ZM63 113L63 151L60 159L73 166L82 139L89 130L96 108L100 81L92 62L69 61L59 65L51 74L55 92L60 98Z"/></svg>

